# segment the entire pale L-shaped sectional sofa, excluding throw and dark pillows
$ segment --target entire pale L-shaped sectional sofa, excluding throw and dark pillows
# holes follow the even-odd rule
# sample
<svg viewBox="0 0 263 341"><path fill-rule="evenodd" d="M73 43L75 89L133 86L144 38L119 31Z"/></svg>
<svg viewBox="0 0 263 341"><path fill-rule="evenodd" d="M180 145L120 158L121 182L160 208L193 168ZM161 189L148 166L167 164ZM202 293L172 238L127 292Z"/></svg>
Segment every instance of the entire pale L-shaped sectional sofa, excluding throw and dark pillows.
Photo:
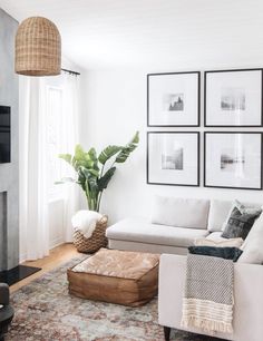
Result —
<svg viewBox="0 0 263 341"><path fill-rule="evenodd" d="M169 329L182 329L182 299L184 293L187 247L196 238L214 241L221 237L222 226L227 221L233 202L158 197L152 218L127 218L107 230L109 247L160 253L158 319ZM247 205L247 204L246 204ZM254 205L252 205L254 206ZM260 206L257 204L257 206ZM234 341L263 340L263 214L256 228L246 241L252 245L244 249L234 265L234 333L214 337ZM253 232L253 233L252 233ZM246 243L246 242L245 242ZM246 252L246 256L242 260ZM244 264L244 263L257 264ZM242 261L242 262L240 262ZM199 330L188 330L202 333Z"/></svg>

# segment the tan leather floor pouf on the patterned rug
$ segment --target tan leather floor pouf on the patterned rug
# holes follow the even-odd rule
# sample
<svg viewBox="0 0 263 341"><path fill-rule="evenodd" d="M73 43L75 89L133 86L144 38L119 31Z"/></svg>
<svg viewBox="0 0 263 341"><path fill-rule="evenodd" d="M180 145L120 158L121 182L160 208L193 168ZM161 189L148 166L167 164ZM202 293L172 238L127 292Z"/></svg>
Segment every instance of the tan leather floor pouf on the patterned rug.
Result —
<svg viewBox="0 0 263 341"><path fill-rule="evenodd" d="M159 255L100 249L68 270L69 292L82 299L138 306L157 294Z"/></svg>

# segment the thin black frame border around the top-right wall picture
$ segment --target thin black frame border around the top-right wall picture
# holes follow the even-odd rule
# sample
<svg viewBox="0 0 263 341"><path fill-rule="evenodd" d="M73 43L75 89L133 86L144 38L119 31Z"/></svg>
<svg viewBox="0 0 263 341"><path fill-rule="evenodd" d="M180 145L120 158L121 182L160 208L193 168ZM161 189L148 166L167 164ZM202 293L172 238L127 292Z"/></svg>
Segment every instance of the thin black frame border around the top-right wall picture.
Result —
<svg viewBox="0 0 263 341"><path fill-rule="evenodd" d="M225 72L247 72L247 71L260 71L261 72L261 113L260 113L260 124L259 125L253 125L253 124L247 124L247 125L213 125L213 124L207 124L207 75L208 74L225 74ZM253 127L262 127L263 126L263 68L249 68L249 69L226 69L226 70L207 70L204 71L204 127L215 127L215 128L253 128Z"/></svg>

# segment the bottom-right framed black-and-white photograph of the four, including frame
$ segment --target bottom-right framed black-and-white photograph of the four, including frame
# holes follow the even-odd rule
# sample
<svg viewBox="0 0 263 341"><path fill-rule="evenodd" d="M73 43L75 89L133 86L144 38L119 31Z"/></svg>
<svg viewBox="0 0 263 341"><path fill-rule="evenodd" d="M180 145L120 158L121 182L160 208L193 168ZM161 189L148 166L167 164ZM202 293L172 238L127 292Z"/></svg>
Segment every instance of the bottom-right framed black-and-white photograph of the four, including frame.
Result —
<svg viewBox="0 0 263 341"><path fill-rule="evenodd" d="M204 134L205 187L262 189L262 133Z"/></svg>

